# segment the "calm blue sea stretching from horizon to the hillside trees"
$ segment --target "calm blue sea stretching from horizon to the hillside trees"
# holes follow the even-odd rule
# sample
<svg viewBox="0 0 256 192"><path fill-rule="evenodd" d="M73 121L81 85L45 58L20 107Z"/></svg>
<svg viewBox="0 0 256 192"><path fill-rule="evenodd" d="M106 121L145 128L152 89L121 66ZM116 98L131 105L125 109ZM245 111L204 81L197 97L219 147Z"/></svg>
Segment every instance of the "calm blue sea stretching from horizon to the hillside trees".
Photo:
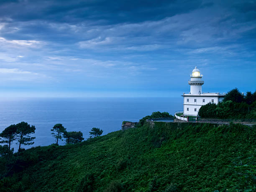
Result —
<svg viewBox="0 0 256 192"><path fill-rule="evenodd" d="M25 121L36 127L33 146L47 146L55 142L50 129L56 123L61 123L67 131L81 131L83 137L88 138L89 131L93 127L101 128L104 135L120 130L123 120L138 121L154 111L167 111L173 115L177 110L182 110L182 98L0 100L0 131L11 124Z"/></svg>

